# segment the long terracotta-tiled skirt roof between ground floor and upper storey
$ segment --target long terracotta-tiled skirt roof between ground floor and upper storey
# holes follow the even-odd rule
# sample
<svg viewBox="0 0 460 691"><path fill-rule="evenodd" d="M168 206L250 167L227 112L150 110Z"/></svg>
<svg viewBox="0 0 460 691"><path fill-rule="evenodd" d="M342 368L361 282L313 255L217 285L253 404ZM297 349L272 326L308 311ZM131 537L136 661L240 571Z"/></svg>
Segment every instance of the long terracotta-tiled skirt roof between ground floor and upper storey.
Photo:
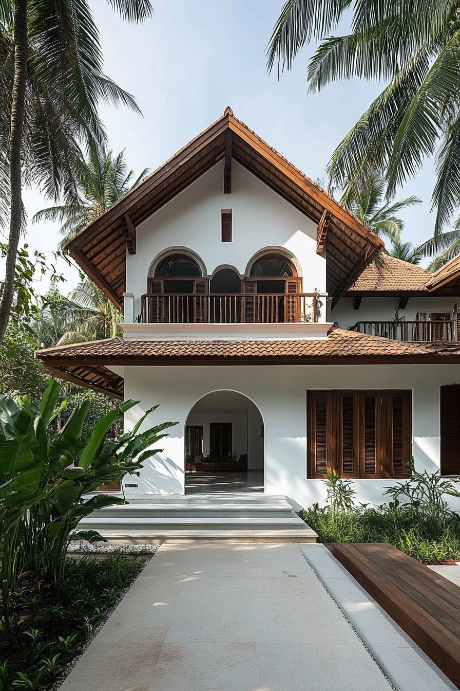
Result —
<svg viewBox="0 0 460 691"><path fill-rule="evenodd" d="M317 341L125 341L122 338L39 350L55 376L123 397L118 366L372 365L459 363L460 343L401 343L333 328Z"/></svg>

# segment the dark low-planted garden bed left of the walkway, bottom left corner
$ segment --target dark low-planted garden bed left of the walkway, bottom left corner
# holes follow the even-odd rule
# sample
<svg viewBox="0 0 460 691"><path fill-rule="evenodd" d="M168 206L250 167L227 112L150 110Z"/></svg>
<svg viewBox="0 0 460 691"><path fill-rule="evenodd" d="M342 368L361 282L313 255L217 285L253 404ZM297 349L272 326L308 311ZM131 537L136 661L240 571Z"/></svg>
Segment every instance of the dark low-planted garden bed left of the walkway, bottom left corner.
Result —
<svg viewBox="0 0 460 691"><path fill-rule="evenodd" d="M149 558L95 553L68 558L57 584L21 581L10 644L0 638L0 691L58 688Z"/></svg>

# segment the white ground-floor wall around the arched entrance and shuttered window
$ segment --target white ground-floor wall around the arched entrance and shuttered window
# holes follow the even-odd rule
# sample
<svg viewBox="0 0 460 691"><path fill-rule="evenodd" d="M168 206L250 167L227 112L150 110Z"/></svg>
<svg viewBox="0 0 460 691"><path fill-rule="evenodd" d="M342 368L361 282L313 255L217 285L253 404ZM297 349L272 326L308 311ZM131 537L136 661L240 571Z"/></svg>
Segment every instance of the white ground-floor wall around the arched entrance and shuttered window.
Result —
<svg viewBox="0 0 460 691"><path fill-rule="evenodd" d="M302 506L323 502L321 480L306 477L306 390L308 388L407 388L413 392L413 453L417 467L439 468L439 387L460 382L457 365L396 366L219 366L124 368L125 396L140 399L128 411L132 426L143 410L161 404L150 424L179 421L164 451L146 462L139 493L183 493L186 419L206 393L234 390L259 407L265 426L265 491L284 494ZM381 504L391 480L355 480L359 501ZM460 506L458 507L460 509Z"/></svg>

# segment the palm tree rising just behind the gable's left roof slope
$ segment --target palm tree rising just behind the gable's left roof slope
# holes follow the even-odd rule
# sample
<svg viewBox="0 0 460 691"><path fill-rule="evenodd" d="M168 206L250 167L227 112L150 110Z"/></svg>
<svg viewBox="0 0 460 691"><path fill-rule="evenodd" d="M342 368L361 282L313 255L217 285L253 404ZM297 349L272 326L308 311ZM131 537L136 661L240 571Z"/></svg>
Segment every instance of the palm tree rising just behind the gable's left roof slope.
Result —
<svg viewBox="0 0 460 691"><path fill-rule="evenodd" d="M124 149L113 156L112 151L106 151L103 146L90 144L87 158L79 155L74 166L79 196L66 204L38 211L34 222L49 220L60 223L59 232L64 236L62 243L76 235L148 173L148 168L144 168L133 180L134 171L128 170L124 155Z"/></svg>

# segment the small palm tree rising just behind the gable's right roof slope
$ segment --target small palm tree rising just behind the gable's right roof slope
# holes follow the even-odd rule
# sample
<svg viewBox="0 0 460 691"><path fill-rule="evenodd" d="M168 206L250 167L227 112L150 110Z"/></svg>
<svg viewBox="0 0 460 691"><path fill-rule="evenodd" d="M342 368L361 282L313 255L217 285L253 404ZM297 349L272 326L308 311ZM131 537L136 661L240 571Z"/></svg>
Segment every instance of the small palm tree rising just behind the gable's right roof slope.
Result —
<svg viewBox="0 0 460 691"><path fill-rule="evenodd" d="M421 200L410 196L398 202L382 203L385 188L383 175L374 172L367 180L361 180L357 187L349 191L348 195L342 198L342 203L379 238L387 238L398 243L404 227L404 222L398 214L403 209L421 204Z"/></svg>

